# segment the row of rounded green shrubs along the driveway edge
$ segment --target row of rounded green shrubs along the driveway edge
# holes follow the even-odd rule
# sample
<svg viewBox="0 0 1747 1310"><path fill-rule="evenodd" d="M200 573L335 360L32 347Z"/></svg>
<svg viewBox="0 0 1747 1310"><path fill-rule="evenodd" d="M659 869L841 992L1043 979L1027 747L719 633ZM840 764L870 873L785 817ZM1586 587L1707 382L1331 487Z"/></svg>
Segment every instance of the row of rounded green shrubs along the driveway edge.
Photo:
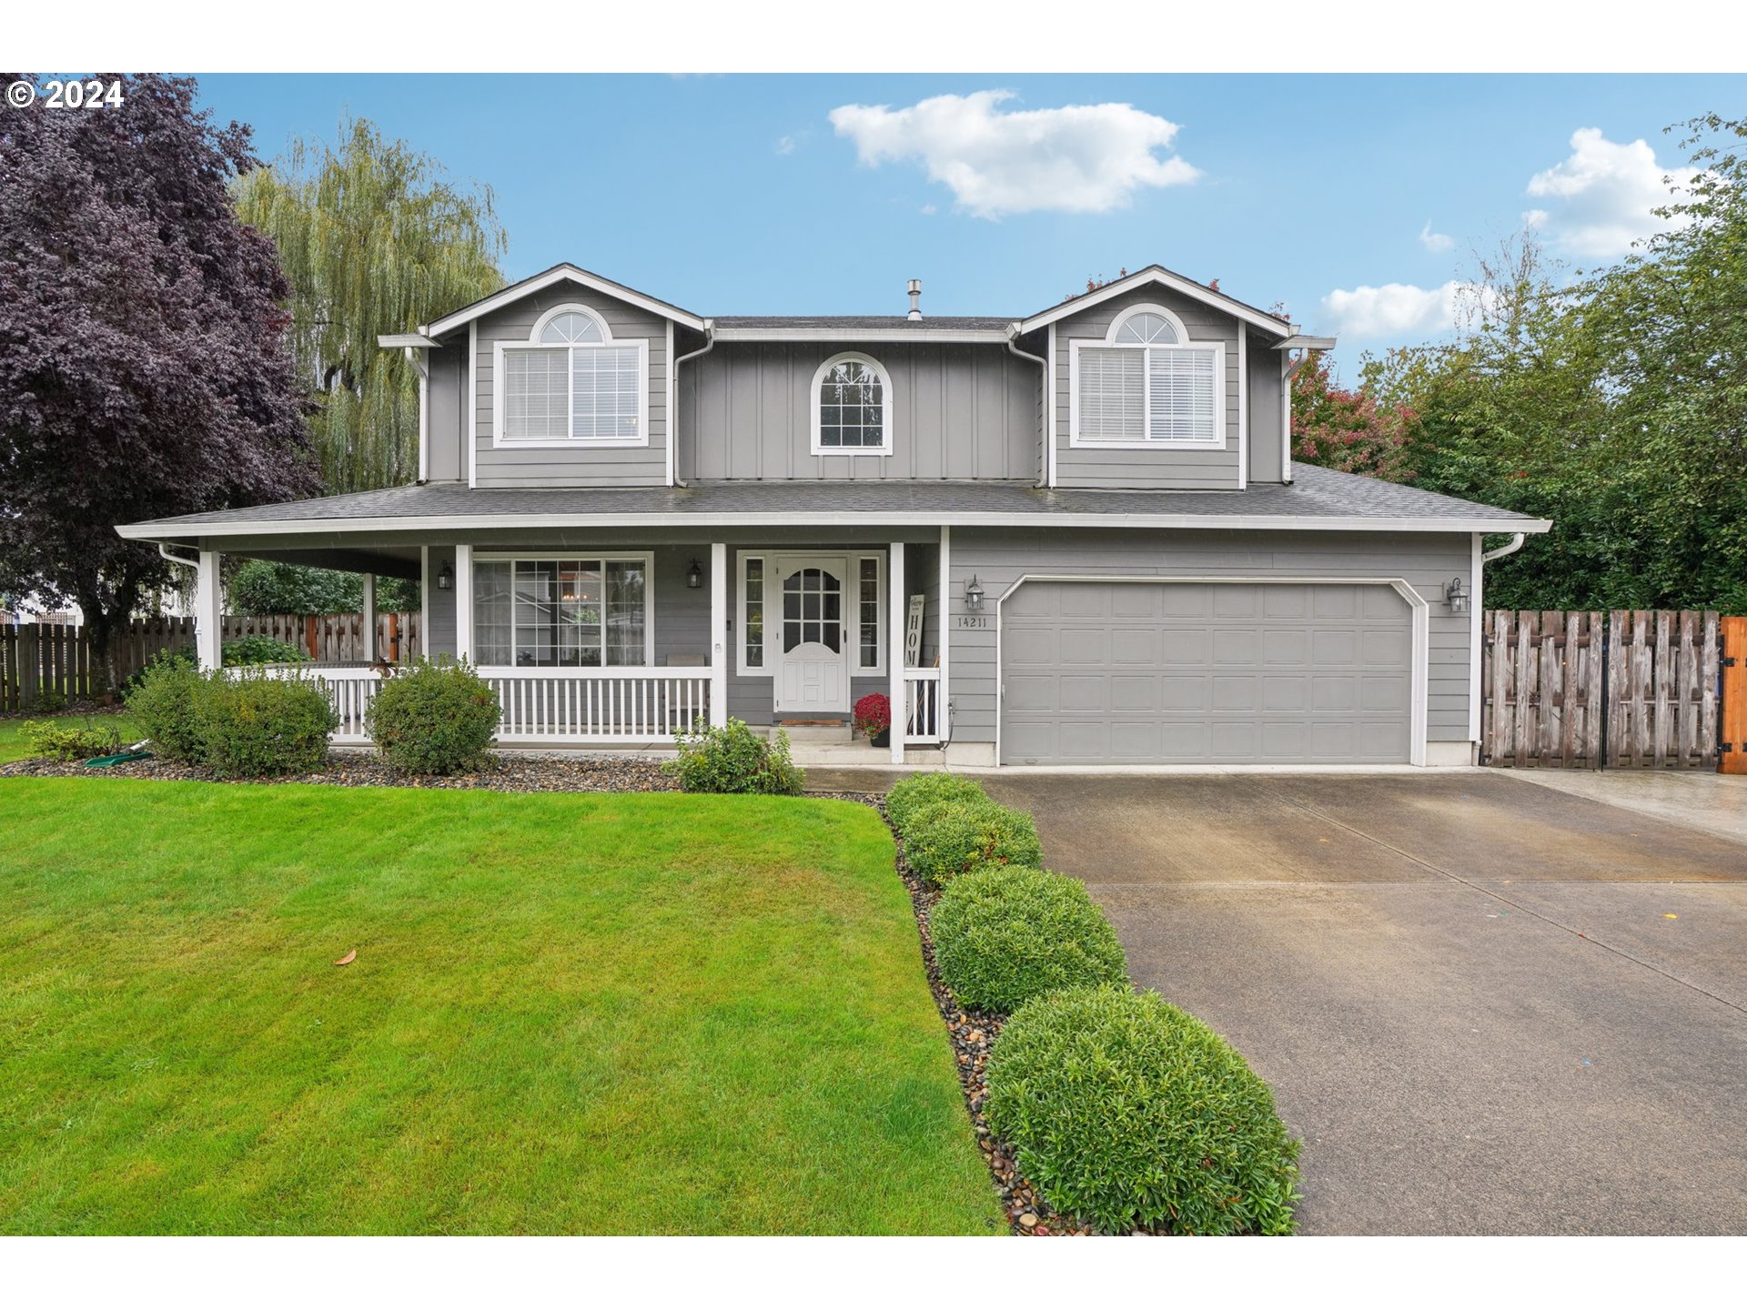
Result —
<svg viewBox="0 0 1747 1310"><path fill-rule="evenodd" d="M1104 1231L1289 1233L1298 1142L1268 1085L1205 1024L1134 990L1085 884L1041 868L1031 816L950 774L905 779L886 814L942 887L942 980L1010 1017L985 1111L1050 1205Z"/></svg>

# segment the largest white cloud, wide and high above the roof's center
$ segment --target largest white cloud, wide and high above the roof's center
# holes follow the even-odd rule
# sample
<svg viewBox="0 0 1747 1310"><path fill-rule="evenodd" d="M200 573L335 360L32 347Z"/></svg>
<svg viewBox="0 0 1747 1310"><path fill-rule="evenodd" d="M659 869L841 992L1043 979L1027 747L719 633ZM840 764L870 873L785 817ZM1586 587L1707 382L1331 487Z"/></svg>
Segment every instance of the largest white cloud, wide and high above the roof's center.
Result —
<svg viewBox="0 0 1747 1310"><path fill-rule="evenodd" d="M840 105L839 136L877 168L919 159L933 182L952 189L978 218L1057 210L1104 213L1143 187L1193 182L1200 169L1167 150L1177 124L1134 105L1064 105L1001 112L1012 91L933 96L908 108Z"/></svg>

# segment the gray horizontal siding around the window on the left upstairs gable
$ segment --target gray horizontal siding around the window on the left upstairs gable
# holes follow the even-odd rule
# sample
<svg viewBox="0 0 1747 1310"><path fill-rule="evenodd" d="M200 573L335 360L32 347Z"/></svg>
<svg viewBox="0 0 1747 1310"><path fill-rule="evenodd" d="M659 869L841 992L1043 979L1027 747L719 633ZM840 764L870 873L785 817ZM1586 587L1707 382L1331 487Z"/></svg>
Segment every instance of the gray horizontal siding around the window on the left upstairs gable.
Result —
<svg viewBox="0 0 1747 1310"><path fill-rule="evenodd" d="M561 304L582 304L601 314L613 341L648 342L646 445L575 447L493 444L493 367L500 341L528 341L535 320ZM477 320L473 369L473 477L480 487L624 487L667 480L667 320L610 295L575 285L549 286ZM463 348L465 351L465 348Z"/></svg>

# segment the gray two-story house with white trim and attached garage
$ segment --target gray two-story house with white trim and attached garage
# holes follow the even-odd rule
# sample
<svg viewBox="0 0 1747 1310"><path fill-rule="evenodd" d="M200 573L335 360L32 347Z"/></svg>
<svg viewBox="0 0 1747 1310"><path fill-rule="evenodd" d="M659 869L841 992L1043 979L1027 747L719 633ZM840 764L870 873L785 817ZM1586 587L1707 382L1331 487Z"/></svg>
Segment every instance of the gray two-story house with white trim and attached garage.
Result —
<svg viewBox="0 0 1747 1310"><path fill-rule="evenodd" d="M121 533L197 564L206 664L225 554L419 578L505 744L887 692L893 760L1471 762L1481 534L1550 524L1295 465L1289 377L1333 342L1167 269L1029 316L910 290L704 318L563 264L383 339L416 486ZM362 739L377 674L321 672Z"/></svg>

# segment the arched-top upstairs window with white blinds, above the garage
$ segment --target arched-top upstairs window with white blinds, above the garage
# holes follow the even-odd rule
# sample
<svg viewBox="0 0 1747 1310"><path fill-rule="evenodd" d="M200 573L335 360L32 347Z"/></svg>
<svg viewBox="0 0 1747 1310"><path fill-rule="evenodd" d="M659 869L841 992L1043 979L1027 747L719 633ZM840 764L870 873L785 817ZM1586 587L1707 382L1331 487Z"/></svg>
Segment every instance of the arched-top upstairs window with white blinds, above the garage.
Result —
<svg viewBox="0 0 1747 1310"><path fill-rule="evenodd" d="M1225 344L1190 341L1164 306L1143 304L1102 344L1073 342L1074 445L1225 445Z"/></svg>

